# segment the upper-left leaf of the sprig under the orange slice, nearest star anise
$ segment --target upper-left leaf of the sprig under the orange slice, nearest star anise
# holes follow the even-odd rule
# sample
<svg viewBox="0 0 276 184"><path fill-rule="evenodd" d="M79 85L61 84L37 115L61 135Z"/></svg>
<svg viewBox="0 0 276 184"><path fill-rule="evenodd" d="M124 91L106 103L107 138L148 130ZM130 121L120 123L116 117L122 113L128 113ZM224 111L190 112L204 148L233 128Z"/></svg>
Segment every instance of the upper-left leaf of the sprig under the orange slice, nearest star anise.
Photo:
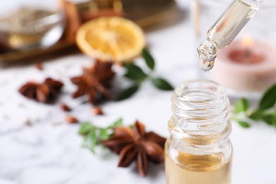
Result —
<svg viewBox="0 0 276 184"><path fill-rule="evenodd" d="M127 73L125 74L125 77L128 79L132 79L134 81L143 81L146 79L147 74L142 71L141 68L139 68L137 65L134 65L132 63L124 64L124 67L127 68Z"/></svg>

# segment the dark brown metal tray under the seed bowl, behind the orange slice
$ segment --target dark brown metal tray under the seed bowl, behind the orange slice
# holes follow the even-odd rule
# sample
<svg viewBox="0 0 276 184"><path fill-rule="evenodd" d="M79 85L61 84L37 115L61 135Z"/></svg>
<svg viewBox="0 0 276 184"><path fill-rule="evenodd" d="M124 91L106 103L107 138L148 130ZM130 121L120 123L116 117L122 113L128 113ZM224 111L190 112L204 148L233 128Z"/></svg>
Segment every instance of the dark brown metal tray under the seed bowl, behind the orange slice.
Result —
<svg viewBox="0 0 276 184"><path fill-rule="evenodd" d="M88 6L87 3L77 4L79 11ZM173 0L122 0L124 17L134 21L142 28L161 23L176 15L178 8ZM61 40L47 49L14 51L0 54L0 63L19 62L76 47L74 44Z"/></svg>

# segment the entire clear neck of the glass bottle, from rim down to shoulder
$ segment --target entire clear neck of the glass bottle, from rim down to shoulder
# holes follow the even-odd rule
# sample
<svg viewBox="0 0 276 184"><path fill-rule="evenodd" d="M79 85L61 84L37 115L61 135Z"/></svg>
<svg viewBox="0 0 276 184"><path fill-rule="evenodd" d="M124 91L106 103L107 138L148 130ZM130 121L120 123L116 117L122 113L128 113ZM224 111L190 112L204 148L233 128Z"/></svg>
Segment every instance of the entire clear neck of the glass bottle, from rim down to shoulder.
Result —
<svg viewBox="0 0 276 184"><path fill-rule="evenodd" d="M212 149L229 142L230 105L224 87L213 81L188 81L176 88L172 102L169 131L178 148Z"/></svg>

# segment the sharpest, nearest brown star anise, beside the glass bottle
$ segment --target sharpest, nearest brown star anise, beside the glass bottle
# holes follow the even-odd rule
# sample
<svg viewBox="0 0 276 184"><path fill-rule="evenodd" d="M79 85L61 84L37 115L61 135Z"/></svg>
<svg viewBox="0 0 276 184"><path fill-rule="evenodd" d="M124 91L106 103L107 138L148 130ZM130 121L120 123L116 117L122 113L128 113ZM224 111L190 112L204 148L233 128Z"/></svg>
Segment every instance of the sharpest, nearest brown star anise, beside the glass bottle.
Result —
<svg viewBox="0 0 276 184"><path fill-rule="evenodd" d="M145 132L144 125L137 121L133 128L115 127L113 137L102 143L111 151L120 155L119 167L130 166L136 159L136 166L141 176L146 176L148 162L164 161L166 139L154 132Z"/></svg>

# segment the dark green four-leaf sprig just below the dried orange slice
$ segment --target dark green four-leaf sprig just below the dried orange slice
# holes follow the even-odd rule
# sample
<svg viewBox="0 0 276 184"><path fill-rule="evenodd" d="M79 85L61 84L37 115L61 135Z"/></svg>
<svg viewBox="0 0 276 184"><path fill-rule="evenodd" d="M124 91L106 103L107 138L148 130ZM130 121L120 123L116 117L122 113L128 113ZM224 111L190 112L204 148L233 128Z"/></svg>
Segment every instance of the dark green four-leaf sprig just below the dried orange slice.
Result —
<svg viewBox="0 0 276 184"><path fill-rule="evenodd" d="M169 84L166 79L153 76L153 71L155 68L154 57L152 57L150 52L145 48L142 50L142 57L146 62L146 66L150 69L149 73L144 72L140 67L133 64L132 62L124 63L123 67L125 67L127 71L125 73L125 77L132 81L132 86L120 91L120 93L115 96L115 100L125 100L127 98L130 98L134 95L134 93L139 90L142 83L146 80L151 81L151 84L153 84L156 88L159 88L160 90L173 90L173 86L171 86L171 84Z"/></svg>

